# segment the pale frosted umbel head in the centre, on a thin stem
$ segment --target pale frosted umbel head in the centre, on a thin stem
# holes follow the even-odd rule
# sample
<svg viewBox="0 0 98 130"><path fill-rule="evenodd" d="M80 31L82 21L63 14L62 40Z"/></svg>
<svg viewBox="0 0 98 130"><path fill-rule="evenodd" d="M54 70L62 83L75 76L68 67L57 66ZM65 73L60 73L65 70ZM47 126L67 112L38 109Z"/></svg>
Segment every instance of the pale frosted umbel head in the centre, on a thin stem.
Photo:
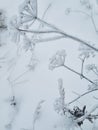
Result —
<svg viewBox="0 0 98 130"><path fill-rule="evenodd" d="M63 66L65 63L66 51L57 51L56 54L50 59L49 69L53 70L57 67Z"/></svg>

